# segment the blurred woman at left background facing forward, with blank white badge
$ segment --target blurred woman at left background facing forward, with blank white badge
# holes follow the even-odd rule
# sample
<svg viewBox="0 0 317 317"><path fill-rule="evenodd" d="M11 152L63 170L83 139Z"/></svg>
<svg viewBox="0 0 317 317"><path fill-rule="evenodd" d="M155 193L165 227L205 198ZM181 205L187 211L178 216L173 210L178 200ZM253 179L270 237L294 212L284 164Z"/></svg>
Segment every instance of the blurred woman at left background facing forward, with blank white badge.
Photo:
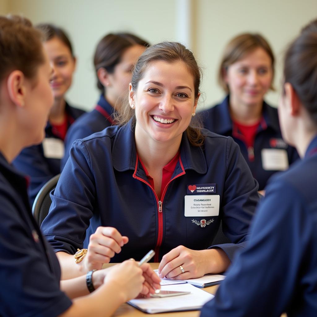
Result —
<svg viewBox="0 0 317 317"><path fill-rule="evenodd" d="M54 104L45 127L45 139L39 145L23 149L13 161L13 165L19 171L30 177L31 205L42 186L61 172L66 132L84 113L84 110L70 106L65 100L76 66L76 58L68 36L64 30L51 24L39 24L38 29L45 35L44 48L53 68L50 85L54 94Z"/></svg>

